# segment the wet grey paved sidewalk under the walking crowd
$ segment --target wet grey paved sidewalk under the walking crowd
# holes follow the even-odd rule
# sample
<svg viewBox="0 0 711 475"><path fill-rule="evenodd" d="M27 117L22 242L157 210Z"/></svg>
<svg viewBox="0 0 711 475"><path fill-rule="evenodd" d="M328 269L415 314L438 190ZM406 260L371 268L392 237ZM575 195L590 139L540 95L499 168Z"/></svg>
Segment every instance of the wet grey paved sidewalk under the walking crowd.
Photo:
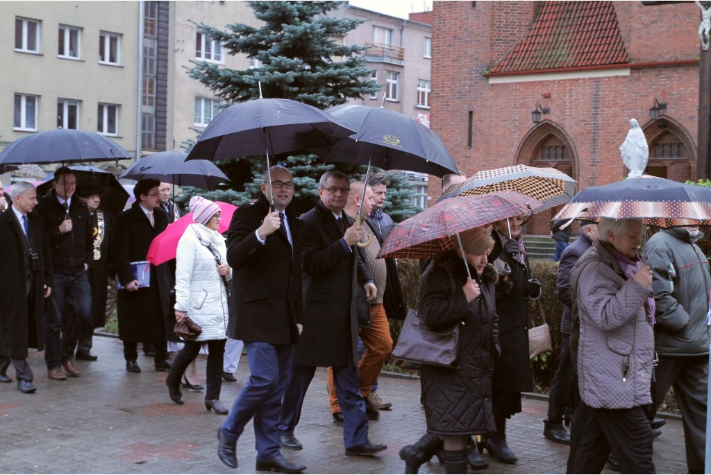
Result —
<svg viewBox="0 0 711 475"><path fill-rule="evenodd" d="M254 431L250 423L237 444L238 469L217 457L216 430L225 416L207 413L204 394L183 390L185 405L168 397L166 374L156 372L153 359L139 356L142 373L124 369L118 339L95 337L98 361L77 361L79 378L51 381L42 353L32 353L35 394L21 394L15 383L0 383L0 473L21 474L250 474L255 472ZM205 371L205 356L198 370ZM9 375L14 379L14 369ZM248 368L242 356L237 383L223 383L225 406L231 407ZM304 450L283 450L287 459L308 466L309 474L402 474L397 452L424 432L419 381L380 378L378 393L393 403L371 422L372 442L387 444L380 457L346 457L343 429L331 422L326 372L319 369L304 403L296 437ZM523 413L509 423L509 445L515 465L493 462L476 473L563 474L568 447L542 437L547 401L526 399ZM669 420L655 442L658 473L686 473L681 422ZM444 474L433 459L420 473ZM474 472L473 472L474 473ZM605 470L604 473L614 473Z"/></svg>

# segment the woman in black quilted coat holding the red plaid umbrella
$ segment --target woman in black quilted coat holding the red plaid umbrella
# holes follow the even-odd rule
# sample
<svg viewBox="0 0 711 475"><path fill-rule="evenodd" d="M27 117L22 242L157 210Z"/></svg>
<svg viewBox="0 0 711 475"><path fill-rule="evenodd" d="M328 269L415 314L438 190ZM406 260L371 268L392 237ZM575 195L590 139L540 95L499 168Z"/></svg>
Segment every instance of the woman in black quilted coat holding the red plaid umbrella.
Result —
<svg viewBox="0 0 711 475"><path fill-rule="evenodd" d="M469 437L495 430L491 381L498 356L494 298L498 276L493 267L487 265L486 258L493 239L489 229L483 227L465 231L460 236L474 280L467 276L461 250L443 253L422 275L419 305L427 327L444 329L461 322L459 368L422 365L420 376L427 434L400 450L405 473L416 474L423 462L439 452L448 474L466 474ZM476 451L474 455L478 455ZM486 468L481 457L477 458L479 460L469 461L472 467Z"/></svg>

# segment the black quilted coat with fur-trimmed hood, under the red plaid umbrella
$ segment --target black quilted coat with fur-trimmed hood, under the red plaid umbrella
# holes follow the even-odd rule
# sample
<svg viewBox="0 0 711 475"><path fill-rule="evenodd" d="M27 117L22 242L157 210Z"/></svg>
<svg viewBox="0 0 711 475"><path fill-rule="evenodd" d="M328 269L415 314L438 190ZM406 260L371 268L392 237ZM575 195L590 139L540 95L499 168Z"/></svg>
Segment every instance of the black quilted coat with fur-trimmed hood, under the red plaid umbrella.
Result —
<svg viewBox="0 0 711 475"><path fill-rule="evenodd" d="M475 435L496 431L491 408L491 381L498 356L496 279L496 271L486 266L479 284L481 299L467 303L461 290L466 283L466 269L454 252L438 258L424 278L419 305L424 324L437 329L462 322L459 368L423 364L420 371L427 432Z"/></svg>

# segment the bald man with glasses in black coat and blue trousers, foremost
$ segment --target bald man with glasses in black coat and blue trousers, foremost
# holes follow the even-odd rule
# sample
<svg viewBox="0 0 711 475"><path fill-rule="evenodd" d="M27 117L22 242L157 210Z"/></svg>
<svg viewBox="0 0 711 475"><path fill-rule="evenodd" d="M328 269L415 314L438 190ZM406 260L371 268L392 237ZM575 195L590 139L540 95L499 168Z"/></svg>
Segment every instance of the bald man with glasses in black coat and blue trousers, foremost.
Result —
<svg viewBox="0 0 711 475"><path fill-rule="evenodd" d="M250 379L220 429L218 456L237 466L237 439L254 418L256 469L299 473L306 466L282 456L276 427L303 315L301 222L287 210L294 197L289 170L272 167L261 190L256 202L237 208L228 231L233 282L228 337L245 342Z"/></svg>

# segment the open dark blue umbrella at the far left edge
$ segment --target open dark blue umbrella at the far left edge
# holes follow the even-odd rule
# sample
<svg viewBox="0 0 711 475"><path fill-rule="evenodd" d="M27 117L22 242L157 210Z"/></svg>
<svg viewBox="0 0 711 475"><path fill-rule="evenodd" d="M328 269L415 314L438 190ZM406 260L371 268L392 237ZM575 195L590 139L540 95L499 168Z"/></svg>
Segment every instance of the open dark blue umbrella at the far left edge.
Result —
<svg viewBox="0 0 711 475"><path fill-rule="evenodd" d="M53 129L18 138L0 152L0 164L73 163L133 158L100 133Z"/></svg>

